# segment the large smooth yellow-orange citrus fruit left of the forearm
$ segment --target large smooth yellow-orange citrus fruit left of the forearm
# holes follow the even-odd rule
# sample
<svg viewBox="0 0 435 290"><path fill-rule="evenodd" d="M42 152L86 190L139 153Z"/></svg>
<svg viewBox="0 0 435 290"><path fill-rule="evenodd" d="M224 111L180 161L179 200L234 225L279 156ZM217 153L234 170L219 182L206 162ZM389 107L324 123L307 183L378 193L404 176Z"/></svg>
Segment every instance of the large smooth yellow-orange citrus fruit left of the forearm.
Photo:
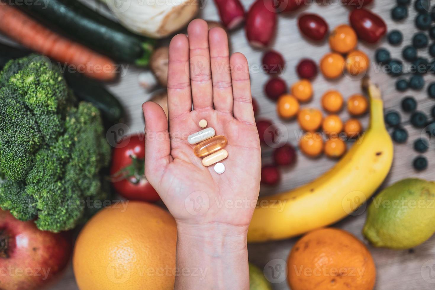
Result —
<svg viewBox="0 0 435 290"><path fill-rule="evenodd" d="M129 201L100 210L81 230L73 267L81 290L174 289L177 227L167 211Z"/></svg>

